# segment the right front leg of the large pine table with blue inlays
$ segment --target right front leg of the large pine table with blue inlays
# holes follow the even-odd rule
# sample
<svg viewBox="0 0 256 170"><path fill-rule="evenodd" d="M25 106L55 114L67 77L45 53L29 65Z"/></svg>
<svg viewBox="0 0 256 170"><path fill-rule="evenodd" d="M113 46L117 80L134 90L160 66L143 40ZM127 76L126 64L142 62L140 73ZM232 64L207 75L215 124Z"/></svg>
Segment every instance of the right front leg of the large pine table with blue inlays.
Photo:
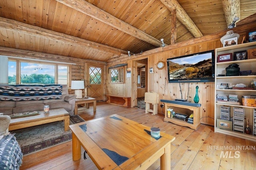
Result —
<svg viewBox="0 0 256 170"><path fill-rule="evenodd" d="M164 149L164 154L160 158L160 170L171 169L171 143Z"/></svg>

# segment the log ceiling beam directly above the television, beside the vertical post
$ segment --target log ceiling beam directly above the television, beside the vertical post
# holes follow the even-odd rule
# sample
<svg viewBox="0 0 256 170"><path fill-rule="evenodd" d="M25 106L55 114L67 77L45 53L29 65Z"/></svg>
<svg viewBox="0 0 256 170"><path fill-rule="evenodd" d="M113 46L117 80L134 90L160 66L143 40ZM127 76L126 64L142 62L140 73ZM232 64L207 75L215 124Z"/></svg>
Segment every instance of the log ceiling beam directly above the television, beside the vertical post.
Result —
<svg viewBox="0 0 256 170"><path fill-rule="evenodd" d="M203 34L196 24L191 20L177 0L160 0L170 11L176 9L177 19L190 31L194 37L202 37Z"/></svg>

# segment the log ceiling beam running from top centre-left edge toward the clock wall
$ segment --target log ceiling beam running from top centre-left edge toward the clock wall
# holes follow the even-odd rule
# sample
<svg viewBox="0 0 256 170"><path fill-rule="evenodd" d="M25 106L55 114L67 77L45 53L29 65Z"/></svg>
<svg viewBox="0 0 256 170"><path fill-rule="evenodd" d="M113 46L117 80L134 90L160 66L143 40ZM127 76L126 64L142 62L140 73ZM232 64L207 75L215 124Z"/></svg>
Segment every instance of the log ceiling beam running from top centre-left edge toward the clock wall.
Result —
<svg viewBox="0 0 256 170"><path fill-rule="evenodd" d="M83 14L86 14L92 18L95 18L96 20L102 21L116 29L119 29L120 31L123 31L133 37L136 37L142 41L145 41L147 43L150 43L156 47L161 47L162 43L160 40L144 33L140 29L137 29L136 27L133 27L132 25L112 16L111 14L108 14L107 12L101 10L100 8L97 8L96 6L90 4L89 2L85 0L56 0L66 6L69 6L70 8L73 8L75 10L78 10L79 12L82 12Z"/></svg>

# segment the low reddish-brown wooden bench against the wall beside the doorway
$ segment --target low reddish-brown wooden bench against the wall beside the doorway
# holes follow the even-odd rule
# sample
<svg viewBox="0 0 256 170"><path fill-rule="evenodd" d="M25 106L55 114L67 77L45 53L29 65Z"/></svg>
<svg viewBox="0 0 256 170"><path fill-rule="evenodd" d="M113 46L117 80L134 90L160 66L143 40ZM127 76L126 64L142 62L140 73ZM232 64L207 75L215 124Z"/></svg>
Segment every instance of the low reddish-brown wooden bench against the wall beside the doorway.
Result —
<svg viewBox="0 0 256 170"><path fill-rule="evenodd" d="M122 107L130 107L131 106L131 97L127 96L117 96L112 94L106 94L108 100L107 103L114 104Z"/></svg>

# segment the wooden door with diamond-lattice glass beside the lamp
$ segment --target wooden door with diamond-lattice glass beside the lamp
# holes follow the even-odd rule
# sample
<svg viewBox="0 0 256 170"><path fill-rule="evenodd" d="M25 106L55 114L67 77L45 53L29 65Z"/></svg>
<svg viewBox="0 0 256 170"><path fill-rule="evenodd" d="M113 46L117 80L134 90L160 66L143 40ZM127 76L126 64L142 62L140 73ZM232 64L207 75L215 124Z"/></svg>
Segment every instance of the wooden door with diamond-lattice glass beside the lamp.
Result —
<svg viewBox="0 0 256 170"><path fill-rule="evenodd" d="M103 100L103 70L103 66L88 65L88 96L97 101Z"/></svg>

